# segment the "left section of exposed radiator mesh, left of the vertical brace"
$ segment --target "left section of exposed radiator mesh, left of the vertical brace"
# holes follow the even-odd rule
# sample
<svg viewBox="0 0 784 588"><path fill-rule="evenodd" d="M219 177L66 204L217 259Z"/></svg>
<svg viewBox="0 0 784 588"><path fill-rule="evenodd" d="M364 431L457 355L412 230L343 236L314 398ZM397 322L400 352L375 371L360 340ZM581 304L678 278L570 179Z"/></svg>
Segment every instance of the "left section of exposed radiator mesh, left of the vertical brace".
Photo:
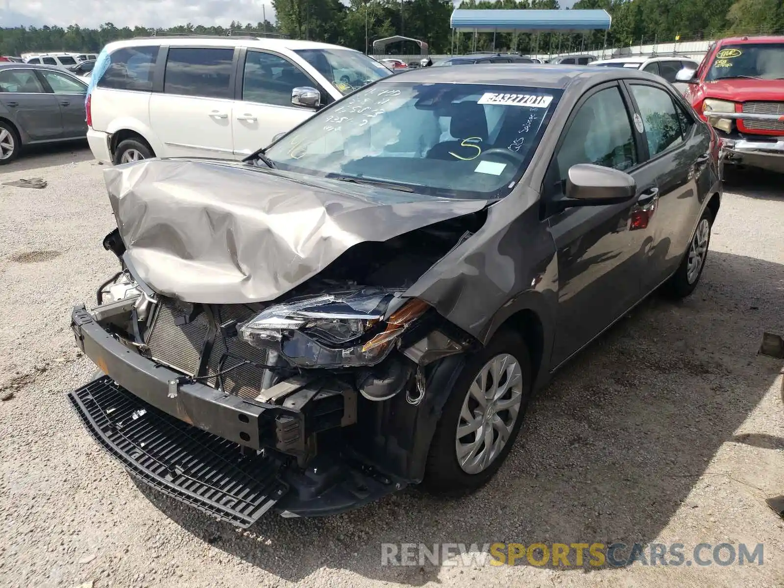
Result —
<svg viewBox="0 0 784 588"><path fill-rule="evenodd" d="M147 347L155 361L194 376L198 371L201 346L207 337L209 319L202 311L193 321L177 325L177 321L185 317L185 310L178 306L176 300L162 299L147 336Z"/></svg>

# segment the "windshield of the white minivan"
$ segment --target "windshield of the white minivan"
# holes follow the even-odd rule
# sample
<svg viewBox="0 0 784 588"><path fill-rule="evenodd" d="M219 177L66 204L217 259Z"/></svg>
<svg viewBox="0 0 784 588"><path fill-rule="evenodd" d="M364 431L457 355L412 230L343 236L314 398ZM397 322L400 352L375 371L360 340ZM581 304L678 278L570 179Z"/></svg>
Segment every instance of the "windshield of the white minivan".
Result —
<svg viewBox="0 0 784 588"><path fill-rule="evenodd" d="M295 53L344 96L392 74L384 64L351 49L299 49Z"/></svg>

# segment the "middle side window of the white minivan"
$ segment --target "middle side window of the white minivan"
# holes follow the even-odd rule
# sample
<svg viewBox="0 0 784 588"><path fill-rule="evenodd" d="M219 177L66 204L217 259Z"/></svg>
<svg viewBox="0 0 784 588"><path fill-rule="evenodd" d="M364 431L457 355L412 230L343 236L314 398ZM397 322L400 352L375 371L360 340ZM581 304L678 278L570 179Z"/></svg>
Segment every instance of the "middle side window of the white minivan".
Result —
<svg viewBox="0 0 784 588"><path fill-rule="evenodd" d="M180 96L232 98L234 49L169 47L163 91Z"/></svg>

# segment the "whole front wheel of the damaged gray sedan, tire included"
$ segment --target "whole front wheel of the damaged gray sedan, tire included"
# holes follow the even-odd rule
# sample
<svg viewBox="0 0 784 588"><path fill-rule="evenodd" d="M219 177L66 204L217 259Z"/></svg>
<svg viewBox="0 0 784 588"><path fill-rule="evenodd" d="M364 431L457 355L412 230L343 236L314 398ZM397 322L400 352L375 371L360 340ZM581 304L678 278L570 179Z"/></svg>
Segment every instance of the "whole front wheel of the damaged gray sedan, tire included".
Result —
<svg viewBox="0 0 784 588"><path fill-rule="evenodd" d="M531 359L521 336L501 330L463 367L427 456L424 488L474 492L495 475L520 431L531 396Z"/></svg>

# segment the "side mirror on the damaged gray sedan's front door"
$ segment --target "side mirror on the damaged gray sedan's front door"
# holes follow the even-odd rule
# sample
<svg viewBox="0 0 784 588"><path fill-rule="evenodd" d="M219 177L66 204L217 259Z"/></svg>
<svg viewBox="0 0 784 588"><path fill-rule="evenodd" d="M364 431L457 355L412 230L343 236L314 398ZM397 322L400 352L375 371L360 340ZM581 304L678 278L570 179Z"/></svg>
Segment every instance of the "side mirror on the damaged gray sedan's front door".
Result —
<svg viewBox="0 0 784 588"><path fill-rule="evenodd" d="M637 194L637 184L628 173L601 165L579 163L569 168L564 208L602 206L626 202Z"/></svg>

